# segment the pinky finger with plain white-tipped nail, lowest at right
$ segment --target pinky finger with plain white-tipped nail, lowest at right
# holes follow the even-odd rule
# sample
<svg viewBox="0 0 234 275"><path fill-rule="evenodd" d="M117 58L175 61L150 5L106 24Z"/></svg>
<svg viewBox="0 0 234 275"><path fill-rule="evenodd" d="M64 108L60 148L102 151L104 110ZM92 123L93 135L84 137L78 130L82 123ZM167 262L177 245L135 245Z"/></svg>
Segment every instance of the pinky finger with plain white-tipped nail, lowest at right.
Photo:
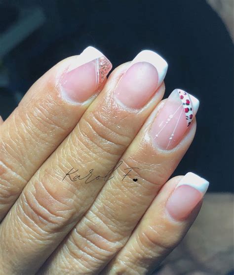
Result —
<svg viewBox="0 0 234 275"><path fill-rule="evenodd" d="M125 246L101 274L153 272L195 221L208 185L193 173L165 183Z"/></svg>

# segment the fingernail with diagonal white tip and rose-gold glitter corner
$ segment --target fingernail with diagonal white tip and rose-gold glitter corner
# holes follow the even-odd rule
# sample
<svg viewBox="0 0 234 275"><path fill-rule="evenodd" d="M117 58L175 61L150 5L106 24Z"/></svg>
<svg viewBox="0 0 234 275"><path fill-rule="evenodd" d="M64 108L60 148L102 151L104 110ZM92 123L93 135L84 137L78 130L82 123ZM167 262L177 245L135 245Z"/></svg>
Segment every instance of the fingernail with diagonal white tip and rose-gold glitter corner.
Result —
<svg viewBox="0 0 234 275"><path fill-rule="evenodd" d="M84 102L100 87L112 69L111 62L94 47L87 47L61 78L61 91L65 99Z"/></svg>

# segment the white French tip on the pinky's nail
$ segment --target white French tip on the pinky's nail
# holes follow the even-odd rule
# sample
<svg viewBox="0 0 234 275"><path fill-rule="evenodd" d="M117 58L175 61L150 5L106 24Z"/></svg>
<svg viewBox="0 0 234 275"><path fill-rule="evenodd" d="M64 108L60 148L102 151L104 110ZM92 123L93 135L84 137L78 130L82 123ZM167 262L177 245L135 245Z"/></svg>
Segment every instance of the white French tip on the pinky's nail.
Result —
<svg viewBox="0 0 234 275"><path fill-rule="evenodd" d="M200 191L203 195L208 189L209 182L207 182L205 179L197 176L196 174L189 172L187 173L184 178L178 183L178 186L181 185L190 185Z"/></svg>

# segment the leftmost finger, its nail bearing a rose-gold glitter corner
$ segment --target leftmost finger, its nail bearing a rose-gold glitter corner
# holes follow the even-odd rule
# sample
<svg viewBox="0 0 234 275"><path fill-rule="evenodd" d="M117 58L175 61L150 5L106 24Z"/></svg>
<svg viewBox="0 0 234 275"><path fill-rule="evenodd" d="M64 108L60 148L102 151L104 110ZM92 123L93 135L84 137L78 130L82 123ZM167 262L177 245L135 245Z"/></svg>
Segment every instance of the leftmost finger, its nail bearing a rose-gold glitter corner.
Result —
<svg viewBox="0 0 234 275"><path fill-rule="evenodd" d="M86 48L45 73L1 125L0 221L39 166L76 126L110 69L100 51Z"/></svg>

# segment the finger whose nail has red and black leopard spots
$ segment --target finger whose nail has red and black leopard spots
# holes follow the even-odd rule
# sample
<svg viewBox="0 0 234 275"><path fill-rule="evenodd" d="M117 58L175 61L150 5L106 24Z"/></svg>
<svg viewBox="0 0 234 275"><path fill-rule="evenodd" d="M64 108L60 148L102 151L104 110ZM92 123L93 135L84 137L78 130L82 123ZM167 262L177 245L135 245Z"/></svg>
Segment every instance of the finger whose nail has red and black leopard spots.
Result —
<svg viewBox="0 0 234 275"><path fill-rule="evenodd" d="M186 119L189 114L186 108L192 108L195 115L198 101L185 92L186 98L182 98L181 92L172 92L163 106L160 104L149 117L123 154L122 164L50 259L48 270L51 274L69 266L76 272L98 273L125 244L195 135L195 120L191 124L192 118ZM192 103L183 105L189 103L184 100L192 99L194 106ZM170 139L172 134L173 139ZM160 139L155 139L156 135Z"/></svg>

